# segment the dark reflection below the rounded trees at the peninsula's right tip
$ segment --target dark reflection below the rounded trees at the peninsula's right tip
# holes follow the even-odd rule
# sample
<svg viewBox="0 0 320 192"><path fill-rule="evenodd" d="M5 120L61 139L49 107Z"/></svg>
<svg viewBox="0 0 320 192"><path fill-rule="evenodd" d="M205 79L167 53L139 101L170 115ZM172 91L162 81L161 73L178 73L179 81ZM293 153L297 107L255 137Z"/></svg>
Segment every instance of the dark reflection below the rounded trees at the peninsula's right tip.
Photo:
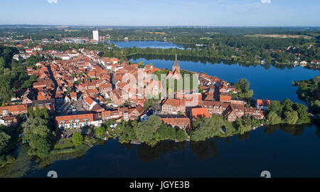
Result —
<svg viewBox="0 0 320 192"><path fill-rule="evenodd" d="M310 127L312 124L276 124L272 126L265 127L266 134L273 134L277 129L280 129L282 132L291 134L294 136L300 136L304 132L306 127Z"/></svg>

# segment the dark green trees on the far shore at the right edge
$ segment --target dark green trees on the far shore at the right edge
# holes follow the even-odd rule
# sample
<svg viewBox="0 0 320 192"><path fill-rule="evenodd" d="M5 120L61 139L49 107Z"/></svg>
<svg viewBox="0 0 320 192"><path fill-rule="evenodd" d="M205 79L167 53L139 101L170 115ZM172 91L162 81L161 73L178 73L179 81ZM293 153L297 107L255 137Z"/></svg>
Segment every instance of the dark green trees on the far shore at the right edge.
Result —
<svg viewBox="0 0 320 192"><path fill-rule="evenodd" d="M310 80L302 80L294 82L299 86L297 93L309 106L309 111L315 114L320 113L320 76L316 76Z"/></svg>

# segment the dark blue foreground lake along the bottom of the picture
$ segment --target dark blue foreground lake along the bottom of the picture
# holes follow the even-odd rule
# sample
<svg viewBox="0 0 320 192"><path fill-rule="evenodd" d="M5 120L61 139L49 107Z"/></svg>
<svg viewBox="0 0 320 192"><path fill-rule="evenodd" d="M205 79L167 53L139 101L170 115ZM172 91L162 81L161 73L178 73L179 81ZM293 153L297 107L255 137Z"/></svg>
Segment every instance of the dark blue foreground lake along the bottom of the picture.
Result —
<svg viewBox="0 0 320 192"><path fill-rule="evenodd" d="M319 177L320 130L260 128L245 136L206 142L121 145L110 139L80 159L57 161L26 177Z"/></svg>

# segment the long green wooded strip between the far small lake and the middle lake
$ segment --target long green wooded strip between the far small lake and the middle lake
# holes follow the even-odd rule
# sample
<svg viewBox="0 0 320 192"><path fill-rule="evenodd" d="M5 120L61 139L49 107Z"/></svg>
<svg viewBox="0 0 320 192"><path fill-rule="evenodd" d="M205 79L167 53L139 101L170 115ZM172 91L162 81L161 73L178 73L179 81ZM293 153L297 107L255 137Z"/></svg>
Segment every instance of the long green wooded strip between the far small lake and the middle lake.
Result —
<svg viewBox="0 0 320 192"><path fill-rule="evenodd" d="M296 55L300 55L301 60L311 62L311 60L319 59L319 48L311 47L309 49L295 49L292 52L266 52L265 49L259 48L242 48L235 49L230 46L215 46L193 49L178 49L178 48L112 48L112 50L104 50L104 57L126 58L133 55L167 55L179 57L194 57L194 58L214 58L217 60L228 60L233 63L242 63L250 65L258 65L262 60L267 64L292 64L292 60L296 60Z"/></svg>

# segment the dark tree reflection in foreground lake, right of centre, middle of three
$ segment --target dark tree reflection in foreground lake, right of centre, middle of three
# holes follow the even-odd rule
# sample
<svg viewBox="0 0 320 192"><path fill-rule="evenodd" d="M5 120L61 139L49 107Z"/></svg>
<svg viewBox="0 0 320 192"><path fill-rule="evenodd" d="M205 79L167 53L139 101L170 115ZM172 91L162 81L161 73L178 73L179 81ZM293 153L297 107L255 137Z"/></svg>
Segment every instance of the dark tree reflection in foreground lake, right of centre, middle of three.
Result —
<svg viewBox="0 0 320 192"><path fill-rule="evenodd" d="M199 159L206 159L211 156L215 158L220 157L216 143L213 139L201 142L190 142L190 149L198 156Z"/></svg>

